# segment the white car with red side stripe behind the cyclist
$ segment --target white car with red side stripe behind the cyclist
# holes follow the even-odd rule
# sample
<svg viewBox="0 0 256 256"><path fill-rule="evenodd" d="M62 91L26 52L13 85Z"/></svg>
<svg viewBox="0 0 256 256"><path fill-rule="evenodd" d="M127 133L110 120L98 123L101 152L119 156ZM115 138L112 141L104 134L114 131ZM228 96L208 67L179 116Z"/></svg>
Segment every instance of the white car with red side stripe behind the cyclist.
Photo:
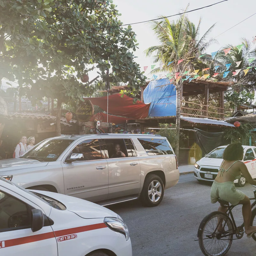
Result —
<svg viewBox="0 0 256 256"><path fill-rule="evenodd" d="M220 165L223 161L223 152L227 146L221 146L218 148L215 148L201 158L199 161L195 164L195 170L194 170L194 176L197 180L211 180L213 181L217 173L219 172ZM244 148L244 158L243 162L247 166L248 171L252 175L252 178L256 178L256 147L253 146L243 146ZM255 164L255 166L254 166ZM243 187L245 185L245 178L242 176L241 179L235 180L234 183L238 187Z"/></svg>

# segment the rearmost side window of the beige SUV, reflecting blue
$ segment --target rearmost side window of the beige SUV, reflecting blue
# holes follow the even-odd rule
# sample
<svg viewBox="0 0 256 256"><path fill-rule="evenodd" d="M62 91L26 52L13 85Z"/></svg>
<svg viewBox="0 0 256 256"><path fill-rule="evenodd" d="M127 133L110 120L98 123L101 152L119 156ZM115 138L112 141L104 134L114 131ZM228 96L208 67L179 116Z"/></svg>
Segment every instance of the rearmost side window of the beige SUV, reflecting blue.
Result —
<svg viewBox="0 0 256 256"><path fill-rule="evenodd" d="M165 139L138 139L148 156L173 155L167 140Z"/></svg>

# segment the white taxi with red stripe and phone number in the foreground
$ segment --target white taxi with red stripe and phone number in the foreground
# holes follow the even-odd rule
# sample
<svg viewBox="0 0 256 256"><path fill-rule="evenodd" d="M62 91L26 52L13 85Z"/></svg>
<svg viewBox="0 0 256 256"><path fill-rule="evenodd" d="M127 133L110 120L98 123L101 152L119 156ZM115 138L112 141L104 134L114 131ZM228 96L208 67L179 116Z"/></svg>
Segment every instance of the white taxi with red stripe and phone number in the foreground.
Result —
<svg viewBox="0 0 256 256"><path fill-rule="evenodd" d="M0 178L0 254L132 256L132 245L115 212Z"/></svg>

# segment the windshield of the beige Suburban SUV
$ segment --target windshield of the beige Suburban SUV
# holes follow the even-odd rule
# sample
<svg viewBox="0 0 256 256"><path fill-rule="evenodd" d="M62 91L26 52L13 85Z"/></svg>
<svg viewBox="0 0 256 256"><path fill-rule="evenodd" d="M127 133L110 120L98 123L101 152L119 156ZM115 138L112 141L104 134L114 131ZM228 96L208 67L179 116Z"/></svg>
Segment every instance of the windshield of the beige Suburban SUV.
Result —
<svg viewBox="0 0 256 256"><path fill-rule="evenodd" d="M41 162L56 161L74 140L47 139L38 143L20 158L35 159Z"/></svg>

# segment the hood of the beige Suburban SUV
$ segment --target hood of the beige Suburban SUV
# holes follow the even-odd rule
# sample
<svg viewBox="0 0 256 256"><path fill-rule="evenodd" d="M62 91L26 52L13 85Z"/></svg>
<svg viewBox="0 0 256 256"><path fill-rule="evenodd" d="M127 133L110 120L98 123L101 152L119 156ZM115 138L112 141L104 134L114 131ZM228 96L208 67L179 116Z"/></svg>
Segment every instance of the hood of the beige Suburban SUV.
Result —
<svg viewBox="0 0 256 256"><path fill-rule="evenodd" d="M23 169L23 168L30 168L30 167L45 166L47 164L48 162L40 162L38 160L27 159L27 158L3 159L3 160L0 160L0 172L14 170L17 168Z"/></svg>

